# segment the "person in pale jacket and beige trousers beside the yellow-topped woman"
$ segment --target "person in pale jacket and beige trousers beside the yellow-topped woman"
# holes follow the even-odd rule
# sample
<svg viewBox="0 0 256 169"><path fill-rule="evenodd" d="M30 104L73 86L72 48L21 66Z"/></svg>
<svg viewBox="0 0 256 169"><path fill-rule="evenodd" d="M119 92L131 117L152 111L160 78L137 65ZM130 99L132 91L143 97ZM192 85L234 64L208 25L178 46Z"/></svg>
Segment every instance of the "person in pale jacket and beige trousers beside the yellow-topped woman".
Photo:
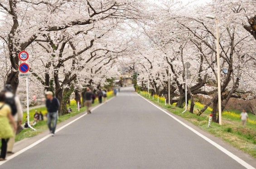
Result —
<svg viewBox="0 0 256 169"><path fill-rule="evenodd" d="M15 123L17 124L17 126L22 124L22 119L23 119L23 112L22 112L22 106L21 103L19 101L19 97L15 96L12 93L12 86L10 84L6 84L5 85L5 97L6 99L8 98L14 98L15 101L15 109L17 110L16 114L13 116ZM11 124L11 127L13 129L14 132L14 137L11 137L8 144L7 144L7 155L12 155L14 154L13 152L13 147L14 147L14 142L15 142L15 136L16 136L16 131L14 130L14 126L13 124Z"/></svg>

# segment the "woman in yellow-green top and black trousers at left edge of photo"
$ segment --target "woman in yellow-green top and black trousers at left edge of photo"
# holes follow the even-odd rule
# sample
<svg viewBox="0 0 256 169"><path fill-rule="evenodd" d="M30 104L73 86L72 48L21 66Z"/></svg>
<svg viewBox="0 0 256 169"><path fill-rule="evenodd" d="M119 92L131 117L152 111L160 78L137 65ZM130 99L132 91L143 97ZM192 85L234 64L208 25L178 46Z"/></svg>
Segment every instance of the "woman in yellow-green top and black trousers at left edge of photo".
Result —
<svg viewBox="0 0 256 169"><path fill-rule="evenodd" d="M1 138L1 154L0 161L5 160L7 154L7 142L14 137L14 131L17 130L16 122L11 114L11 108L5 104L5 92L0 92L0 138ZM12 127L10 126L12 124Z"/></svg>

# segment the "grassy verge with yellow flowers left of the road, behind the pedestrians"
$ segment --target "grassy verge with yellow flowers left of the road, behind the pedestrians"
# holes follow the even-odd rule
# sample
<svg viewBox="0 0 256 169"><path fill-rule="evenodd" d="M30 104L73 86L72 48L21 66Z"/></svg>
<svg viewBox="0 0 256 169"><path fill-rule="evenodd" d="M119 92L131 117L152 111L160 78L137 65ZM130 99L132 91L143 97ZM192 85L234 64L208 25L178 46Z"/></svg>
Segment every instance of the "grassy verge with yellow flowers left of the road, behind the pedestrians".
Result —
<svg viewBox="0 0 256 169"><path fill-rule="evenodd" d="M107 94L107 97L108 98L111 98L113 96L113 92L112 91L109 91L108 94ZM92 106L95 106L95 105L98 105L99 102L98 102L98 99L95 100L95 103L92 105ZM70 107L73 112L71 112L70 114L65 114L63 116L60 116L58 118L58 123L61 123L77 114L80 114L82 113L83 111L86 110L86 107L82 107L80 109L80 112L77 110L77 105L76 105L76 101L75 100L71 100L70 101L70 105L68 105L68 107ZM29 121L30 121L30 124L32 124L34 122L34 113L35 113L35 110L37 110L38 112L42 112L43 115L45 115L47 113L47 109L46 107L41 107L41 108L38 108L38 109L33 109L33 110L30 110L29 111ZM24 112L24 115L23 115L23 121L25 122L26 121L26 116L27 116L27 112ZM29 137L34 137L36 135L38 135L39 133L45 131L48 129L47 127L47 123L46 123L46 118L44 118L43 121L39 121L38 123L36 123L34 126L33 126L36 131L33 131L31 130L30 128L25 128L22 132L20 132L16 137L15 137L15 141L18 142L20 140L23 140L24 138L29 138Z"/></svg>

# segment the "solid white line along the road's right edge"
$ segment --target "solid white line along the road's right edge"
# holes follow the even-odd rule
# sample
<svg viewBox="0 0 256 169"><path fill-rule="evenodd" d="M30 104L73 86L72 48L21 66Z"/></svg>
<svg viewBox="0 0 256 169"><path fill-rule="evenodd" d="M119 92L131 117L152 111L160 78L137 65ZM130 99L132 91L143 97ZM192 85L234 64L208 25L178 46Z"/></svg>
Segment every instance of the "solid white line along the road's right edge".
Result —
<svg viewBox="0 0 256 169"><path fill-rule="evenodd" d="M138 94L139 95L139 94ZM140 95L139 95L140 96ZM143 96L140 96L143 99L145 99ZM145 99L147 100L147 99ZM239 164L241 164L242 166L244 166L246 169L255 169L253 166L251 166L250 164L246 163L244 160L240 159L239 157L237 157L237 155L234 155L232 152L228 151L227 149L225 149L224 147L218 145L216 142L213 142L211 139L209 139L208 137L204 136L203 134L201 134L200 132L196 131L195 129L189 127L187 124L183 123L182 121L180 121L179 119L177 119L176 117L174 117L173 115L169 114L167 111L161 109L160 107L158 107L157 105L155 105L154 103L152 103L151 101L147 100L150 104L154 105L156 108L160 109L161 111L163 111L165 114L169 115L170 117L172 117L174 120L176 120L177 122L181 123L182 125L184 125L186 128L188 128L189 130L191 130L192 132L196 133L199 137L202 137L204 140L206 140L207 142L209 142L210 144L212 144L213 146L217 147L217 149L219 149L220 151L222 151L223 153L225 153L226 155L230 156L232 159L236 160Z"/></svg>

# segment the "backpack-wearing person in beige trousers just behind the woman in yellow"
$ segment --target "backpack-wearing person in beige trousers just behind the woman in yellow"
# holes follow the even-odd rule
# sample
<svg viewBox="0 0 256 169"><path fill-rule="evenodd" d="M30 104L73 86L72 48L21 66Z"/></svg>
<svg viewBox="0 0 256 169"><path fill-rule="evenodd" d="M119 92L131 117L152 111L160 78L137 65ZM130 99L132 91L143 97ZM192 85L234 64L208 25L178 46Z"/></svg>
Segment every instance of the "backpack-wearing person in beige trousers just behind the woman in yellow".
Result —
<svg viewBox="0 0 256 169"><path fill-rule="evenodd" d="M19 101L19 97L15 96L12 93L12 86L10 84L5 85L5 104L9 105L11 108L11 114L14 119L14 122L17 126L22 124L23 112L22 106ZM13 146L15 142L16 131L14 129L14 125L11 124L11 128L13 129L14 136L10 137L8 145L7 145L7 155L14 154Z"/></svg>

